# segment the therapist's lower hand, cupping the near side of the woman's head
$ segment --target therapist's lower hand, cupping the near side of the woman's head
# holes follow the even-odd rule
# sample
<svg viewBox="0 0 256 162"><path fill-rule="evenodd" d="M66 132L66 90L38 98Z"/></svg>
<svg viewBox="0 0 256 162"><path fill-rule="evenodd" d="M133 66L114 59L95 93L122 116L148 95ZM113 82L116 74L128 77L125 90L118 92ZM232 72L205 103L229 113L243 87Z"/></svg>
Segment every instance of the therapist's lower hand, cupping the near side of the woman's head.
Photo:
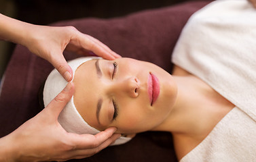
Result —
<svg viewBox="0 0 256 162"><path fill-rule="evenodd" d="M120 137L120 134L114 134L116 128L91 135L69 133L60 126L58 115L71 99L74 89L73 83L69 82L43 111L2 139L5 147L1 149L9 150L8 146L14 149L12 154L5 154L6 161L81 159L98 153Z"/></svg>

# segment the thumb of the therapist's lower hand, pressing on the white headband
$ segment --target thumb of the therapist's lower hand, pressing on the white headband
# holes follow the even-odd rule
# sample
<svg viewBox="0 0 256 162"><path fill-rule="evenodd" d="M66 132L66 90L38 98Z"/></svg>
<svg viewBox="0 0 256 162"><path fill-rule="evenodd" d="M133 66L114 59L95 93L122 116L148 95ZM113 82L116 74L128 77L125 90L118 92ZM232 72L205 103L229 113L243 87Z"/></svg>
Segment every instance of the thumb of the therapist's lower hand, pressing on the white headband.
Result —
<svg viewBox="0 0 256 162"><path fill-rule="evenodd" d="M45 109L51 111L50 113L56 115L56 118L58 118L58 115L67 103L69 103L74 92L75 86L73 82L69 82L67 86L47 105L47 107L45 107Z"/></svg>

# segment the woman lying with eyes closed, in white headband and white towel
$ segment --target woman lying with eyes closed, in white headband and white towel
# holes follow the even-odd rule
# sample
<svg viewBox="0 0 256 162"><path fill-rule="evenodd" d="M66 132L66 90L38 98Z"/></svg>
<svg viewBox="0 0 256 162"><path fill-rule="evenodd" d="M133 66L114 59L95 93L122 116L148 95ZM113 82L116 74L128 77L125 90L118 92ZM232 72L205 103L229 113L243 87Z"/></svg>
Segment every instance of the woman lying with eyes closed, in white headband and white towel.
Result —
<svg viewBox="0 0 256 162"><path fill-rule="evenodd" d="M70 61L75 93L58 120L68 132L172 132L180 161L256 159L256 10L247 1L215 1L187 22L171 74L153 63L81 57ZM66 86L48 76L44 104Z"/></svg>

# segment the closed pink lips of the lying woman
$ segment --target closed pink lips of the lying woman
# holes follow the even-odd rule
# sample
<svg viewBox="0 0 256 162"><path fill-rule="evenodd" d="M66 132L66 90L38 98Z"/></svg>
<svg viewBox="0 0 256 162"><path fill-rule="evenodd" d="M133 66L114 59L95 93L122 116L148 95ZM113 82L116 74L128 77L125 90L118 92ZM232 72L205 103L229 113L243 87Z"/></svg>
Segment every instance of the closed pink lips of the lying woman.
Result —
<svg viewBox="0 0 256 162"><path fill-rule="evenodd" d="M160 84L158 78L149 72L149 78L147 78L147 92L149 94L149 101L151 106L158 99L160 93Z"/></svg>

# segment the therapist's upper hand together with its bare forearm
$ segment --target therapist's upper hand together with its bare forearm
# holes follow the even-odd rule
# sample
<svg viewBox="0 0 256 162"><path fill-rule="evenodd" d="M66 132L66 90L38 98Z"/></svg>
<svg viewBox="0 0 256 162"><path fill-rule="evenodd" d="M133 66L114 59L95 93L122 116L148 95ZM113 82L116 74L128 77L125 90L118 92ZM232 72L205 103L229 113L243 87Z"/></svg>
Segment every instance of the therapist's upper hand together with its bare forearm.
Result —
<svg viewBox="0 0 256 162"><path fill-rule="evenodd" d="M92 51L105 59L120 57L96 38L73 26L39 26L3 14L0 14L0 38L24 45L35 55L48 60L67 81L72 80L73 72L62 55L65 49L82 55Z"/></svg>

